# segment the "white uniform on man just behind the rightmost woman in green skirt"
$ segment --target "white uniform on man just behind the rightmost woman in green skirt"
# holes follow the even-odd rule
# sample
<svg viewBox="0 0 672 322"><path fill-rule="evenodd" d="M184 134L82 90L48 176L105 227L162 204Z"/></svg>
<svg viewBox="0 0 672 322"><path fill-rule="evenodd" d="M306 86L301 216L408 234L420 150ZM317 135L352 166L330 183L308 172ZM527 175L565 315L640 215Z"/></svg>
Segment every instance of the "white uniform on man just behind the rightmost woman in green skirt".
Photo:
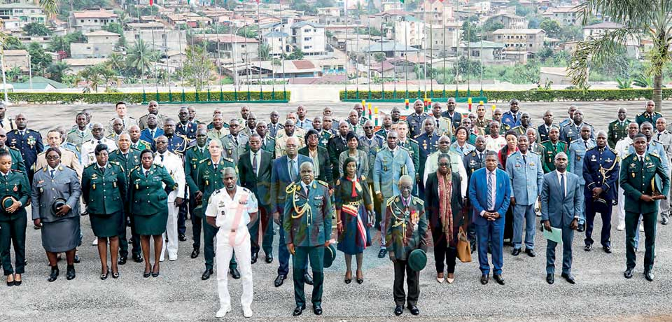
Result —
<svg viewBox="0 0 672 322"><path fill-rule="evenodd" d="M168 242L163 243L161 248L161 257L160 260L165 259L166 250L168 250L168 259L176 260L177 259L177 216L180 211L179 207L175 205L175 199L177 197L184 197L184 186L185 186L185 175L184 175L184 166L182 165L182 158L175 153L167 151L163 153L163 160L161 160L160 153L154 153L154 164L163 165L168 174L172 177L173 181L177 183L177 189L172 190L168 194L168 222L166 223L166 232L163 234L162 238L165 240L166 236L168 237ZM184 201L183 201L184 202Z"/></svg>

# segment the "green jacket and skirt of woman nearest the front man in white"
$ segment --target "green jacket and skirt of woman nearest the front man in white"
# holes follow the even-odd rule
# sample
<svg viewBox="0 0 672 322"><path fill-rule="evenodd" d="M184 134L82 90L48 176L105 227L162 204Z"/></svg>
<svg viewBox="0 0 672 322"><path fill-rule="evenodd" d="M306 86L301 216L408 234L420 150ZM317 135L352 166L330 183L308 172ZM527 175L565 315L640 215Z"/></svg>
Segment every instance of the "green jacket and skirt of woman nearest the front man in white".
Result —
<svg viewBox="0 0 672 322"><path fill-rule="evenodd" d="M138 235L161 235L168 223L168 193L177 189L177 183L162 165L154 164L145 172L138 166L128 175L128 208Z"/></svg>

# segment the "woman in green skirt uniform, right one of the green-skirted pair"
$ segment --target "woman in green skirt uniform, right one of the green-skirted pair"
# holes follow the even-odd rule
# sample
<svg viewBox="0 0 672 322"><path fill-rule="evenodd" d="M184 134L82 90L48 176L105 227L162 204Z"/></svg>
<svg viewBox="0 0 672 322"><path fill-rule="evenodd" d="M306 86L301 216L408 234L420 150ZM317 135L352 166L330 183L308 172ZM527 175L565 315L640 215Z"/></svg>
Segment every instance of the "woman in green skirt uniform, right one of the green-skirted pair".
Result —
<svg viewBox="0 0 672 322"><path fill-rule="evenodd" d="M159 276L159 258L163 247L161 235L168 223L168 193L177 188L168 171L154 164L151 150L140 153L141 165L129 174L129 210L134 216L135 231L140 235L142 255L146 259L143 277ZM164 186L165 184L165 186ZM154 237L154 266L149 260L149 238Z"/></svg>

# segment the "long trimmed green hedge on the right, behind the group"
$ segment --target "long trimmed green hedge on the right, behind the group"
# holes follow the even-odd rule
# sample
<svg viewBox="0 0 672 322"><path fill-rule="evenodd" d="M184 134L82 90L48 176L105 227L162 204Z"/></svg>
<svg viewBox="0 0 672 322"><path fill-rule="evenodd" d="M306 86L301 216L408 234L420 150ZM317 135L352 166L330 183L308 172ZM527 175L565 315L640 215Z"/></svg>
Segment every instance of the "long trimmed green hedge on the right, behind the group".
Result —
<svg viewBox="0 0 672 322"><path fill-rule="evenodd" d="M424 92L420 92L420 98L424 97ZM385 91L385 99L392 99L394 91ZM405 91L397 91L397 99L405 99ZM479 90L472 90L470 95L467 91L458 91L458 97L477 97L480 96ZM348 99L356 98L356 91L348 91ZM345 91L341 91L340 99L345 99ZM446 90L446 97L454 97L455 90ZM526 102L553 102L553 101L616 101L616 100L638 100L651 99L653 90L651 89L624 89L624 90L484 90L483 96L488 98L488 102L508 102L510 99L519 99ZM359 99L381 99L380 91L369 92L359 91ZM444 98L443 90L427 92L427 97L433 99ZM672 88L663 89L663 99L672 97ZM409 92L409 99L416 99L418 92Z"/></svg>

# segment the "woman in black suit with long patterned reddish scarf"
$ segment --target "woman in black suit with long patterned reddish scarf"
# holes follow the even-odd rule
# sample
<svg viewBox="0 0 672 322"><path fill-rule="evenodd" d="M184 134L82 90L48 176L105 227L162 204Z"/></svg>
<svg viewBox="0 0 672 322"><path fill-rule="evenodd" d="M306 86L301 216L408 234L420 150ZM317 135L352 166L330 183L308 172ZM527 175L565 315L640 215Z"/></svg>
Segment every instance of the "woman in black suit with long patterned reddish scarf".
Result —
<svg viewBox="0 0 672 322"><path fill-rule="evenodd" d="M425 184L425 204L434 241L434 260L436 281L443 283L445 260L447 276L445 280L455 280L455 258L457 255L457 233L460 226L466 226L462 211L463 201L460 192L461 178L450 171L450 156L439 155L439 167L429 174Z"/></svg>

